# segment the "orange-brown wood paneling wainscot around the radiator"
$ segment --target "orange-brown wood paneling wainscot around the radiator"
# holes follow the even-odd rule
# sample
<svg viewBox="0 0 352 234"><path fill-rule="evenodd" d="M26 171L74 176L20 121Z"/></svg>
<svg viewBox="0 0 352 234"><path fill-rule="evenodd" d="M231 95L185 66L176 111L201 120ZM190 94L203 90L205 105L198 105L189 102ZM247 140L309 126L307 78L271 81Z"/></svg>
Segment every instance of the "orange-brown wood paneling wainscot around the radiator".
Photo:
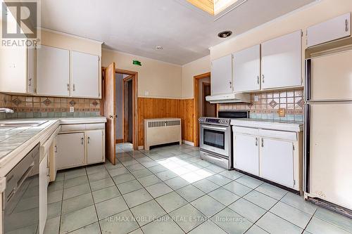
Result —
<svg viewBox="0 0 352 234"><path fill-rule="evenodd" d="M194 102L192 99L138 98L138 145L144 145L144 119L182 119L182 140L193 142Z"/></svg>

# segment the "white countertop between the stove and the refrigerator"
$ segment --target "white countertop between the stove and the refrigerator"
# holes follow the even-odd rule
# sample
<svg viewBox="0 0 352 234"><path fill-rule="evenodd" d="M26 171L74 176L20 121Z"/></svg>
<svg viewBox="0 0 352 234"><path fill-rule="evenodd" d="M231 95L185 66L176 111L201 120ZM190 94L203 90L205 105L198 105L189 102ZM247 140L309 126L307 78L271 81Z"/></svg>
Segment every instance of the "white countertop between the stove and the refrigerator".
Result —
<svg viewBox="0 0 352 234"><path fill-rule="evenodd" d="M302 121L279 119L231 119L231 125L279 131L303 131Z"/></svg>

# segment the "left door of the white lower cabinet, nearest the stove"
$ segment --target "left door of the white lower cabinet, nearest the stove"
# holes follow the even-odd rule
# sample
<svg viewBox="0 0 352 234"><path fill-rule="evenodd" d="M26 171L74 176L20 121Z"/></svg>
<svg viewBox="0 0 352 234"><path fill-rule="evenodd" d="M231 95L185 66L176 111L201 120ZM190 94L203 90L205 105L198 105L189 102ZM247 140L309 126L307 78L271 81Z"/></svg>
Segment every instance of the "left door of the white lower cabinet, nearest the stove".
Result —
<svg viewBox="0 0 352 234"><path fill-rule="evenodd" d="M234 168L259 176L259 149L256 136L234 136Z"/></svg>

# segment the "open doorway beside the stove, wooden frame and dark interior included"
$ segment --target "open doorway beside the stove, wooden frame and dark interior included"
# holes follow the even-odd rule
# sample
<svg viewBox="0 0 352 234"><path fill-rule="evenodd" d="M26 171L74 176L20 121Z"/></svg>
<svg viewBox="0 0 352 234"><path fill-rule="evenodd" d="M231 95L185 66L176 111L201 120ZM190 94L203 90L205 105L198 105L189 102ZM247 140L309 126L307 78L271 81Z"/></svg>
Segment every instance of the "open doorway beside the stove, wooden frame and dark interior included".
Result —
<svg viewBox="0 0 352 234"><path fill-rule="evenodd" d="M210 72L194 77L194 146L199 146L199 117L217 117L218 106L206 100L210 95Z"/></svg>

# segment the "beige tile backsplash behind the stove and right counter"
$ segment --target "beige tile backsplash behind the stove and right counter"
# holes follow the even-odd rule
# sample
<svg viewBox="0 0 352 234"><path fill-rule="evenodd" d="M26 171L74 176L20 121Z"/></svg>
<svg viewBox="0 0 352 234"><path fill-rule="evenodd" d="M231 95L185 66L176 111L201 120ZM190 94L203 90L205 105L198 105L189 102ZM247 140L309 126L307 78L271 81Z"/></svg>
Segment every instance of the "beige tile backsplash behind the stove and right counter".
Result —
<svg viewBox="0 0 352 234"><path fill-rule="evenodd" d="M279 108L286 110L285 117L279 117L277 113ZM303 108L303 89L251 93L249 104L220 104L220 110L249 110L251 118L254 119L303 121Z"/></svg>

